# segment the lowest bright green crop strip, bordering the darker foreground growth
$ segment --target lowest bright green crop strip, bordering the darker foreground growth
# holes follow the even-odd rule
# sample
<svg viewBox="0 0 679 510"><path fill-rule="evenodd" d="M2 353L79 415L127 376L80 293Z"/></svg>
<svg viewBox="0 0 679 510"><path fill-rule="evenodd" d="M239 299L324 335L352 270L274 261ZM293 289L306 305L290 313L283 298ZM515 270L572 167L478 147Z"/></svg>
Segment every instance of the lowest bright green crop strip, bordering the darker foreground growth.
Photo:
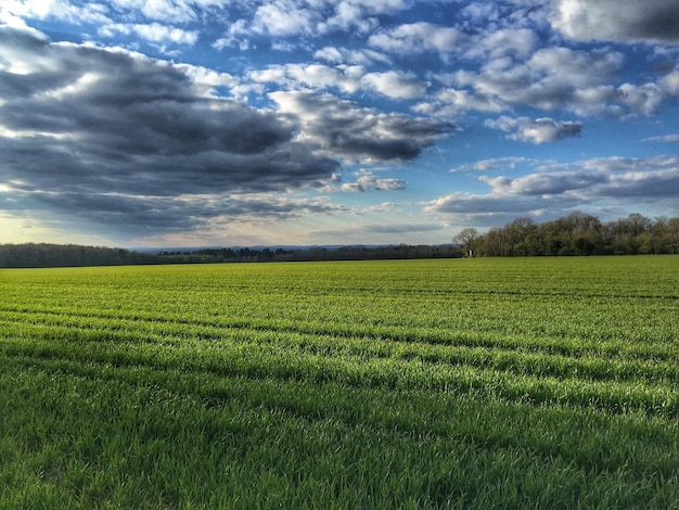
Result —
<svg viewBox="0 0 679 510"><path fill-rule="evenodd" d="M34 356L115 367L153 367L184 372L212 372L253 379L276 378L355 387L428 388L439 392L486 393L510 400L574 404L611 411L643 409L675 416L676 384L644 381L592 381L516 373L472 365L426 364L421 360L332 357L269 346L221 345L220 349L176 346L115 345L4 340L4 356Z"/></svg>

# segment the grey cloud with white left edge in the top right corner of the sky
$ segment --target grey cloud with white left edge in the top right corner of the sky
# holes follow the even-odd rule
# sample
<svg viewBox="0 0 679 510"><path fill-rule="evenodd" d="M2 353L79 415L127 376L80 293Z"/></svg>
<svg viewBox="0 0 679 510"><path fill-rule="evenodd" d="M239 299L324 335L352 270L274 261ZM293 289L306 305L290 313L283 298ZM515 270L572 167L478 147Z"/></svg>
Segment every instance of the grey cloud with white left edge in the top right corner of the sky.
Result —
<svg viewBox="0 0 679 510"><path fill-rule="evenodd" d="M679 43L675 0L553 0L552 26L576 40Z"/></svg>

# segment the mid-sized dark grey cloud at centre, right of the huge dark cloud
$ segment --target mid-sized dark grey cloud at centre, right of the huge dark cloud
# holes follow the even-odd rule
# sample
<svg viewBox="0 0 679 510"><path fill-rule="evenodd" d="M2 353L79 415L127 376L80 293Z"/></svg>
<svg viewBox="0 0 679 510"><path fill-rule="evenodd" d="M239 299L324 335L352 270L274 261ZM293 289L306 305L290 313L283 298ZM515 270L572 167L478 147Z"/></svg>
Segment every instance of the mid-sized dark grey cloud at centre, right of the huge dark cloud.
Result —
<svg viewBox="0 0 679 510"><path fill-rule="evenodd" d="M451 123L380 113L331 94L278 91L270 97L280 113L299 124L299 141L348 161L413 160L456 129Z"/></svg>

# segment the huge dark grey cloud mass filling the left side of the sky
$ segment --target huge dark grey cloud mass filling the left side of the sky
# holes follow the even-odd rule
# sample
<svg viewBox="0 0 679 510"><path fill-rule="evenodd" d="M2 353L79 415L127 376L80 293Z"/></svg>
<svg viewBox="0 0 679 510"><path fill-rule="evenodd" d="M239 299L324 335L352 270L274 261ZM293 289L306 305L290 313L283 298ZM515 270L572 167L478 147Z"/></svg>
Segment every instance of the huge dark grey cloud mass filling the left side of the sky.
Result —
<svg viewBox="0 0 679 510"><path fill-rule="evenodd" d="M161 197L320 187L338 168L290 119L214 93L228 76L8 27L0 54L0 182L42 208L142 229Z"/></svg>

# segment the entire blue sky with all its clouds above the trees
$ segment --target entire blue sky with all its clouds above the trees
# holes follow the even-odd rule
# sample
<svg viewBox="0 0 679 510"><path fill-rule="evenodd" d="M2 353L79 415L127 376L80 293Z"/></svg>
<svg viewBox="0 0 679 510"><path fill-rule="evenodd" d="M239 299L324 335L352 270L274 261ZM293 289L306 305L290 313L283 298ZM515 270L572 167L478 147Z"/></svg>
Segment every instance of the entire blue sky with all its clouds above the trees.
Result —
<svg viewBox="0 0 679 510"><path fill-rule="evenodd" d="M0 243L679 216L677 0L2 0Z"/></svg>

